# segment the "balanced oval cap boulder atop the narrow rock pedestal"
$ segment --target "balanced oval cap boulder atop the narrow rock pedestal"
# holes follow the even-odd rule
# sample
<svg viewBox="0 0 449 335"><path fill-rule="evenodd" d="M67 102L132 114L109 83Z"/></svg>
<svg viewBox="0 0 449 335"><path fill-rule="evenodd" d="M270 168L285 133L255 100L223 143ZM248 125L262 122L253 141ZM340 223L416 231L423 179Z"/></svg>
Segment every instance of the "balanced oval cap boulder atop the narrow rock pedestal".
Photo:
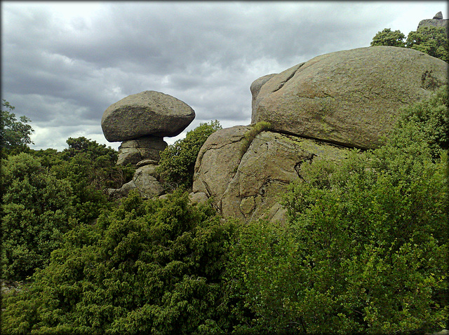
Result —
<svg viewBox="0 0 449 335"><path fill-rule="evenodd" d="M147 135L173 137L194 118L194 110L185 102L147 90L109 106L103 113L101 126L109 142L122 142Z"/></svg>

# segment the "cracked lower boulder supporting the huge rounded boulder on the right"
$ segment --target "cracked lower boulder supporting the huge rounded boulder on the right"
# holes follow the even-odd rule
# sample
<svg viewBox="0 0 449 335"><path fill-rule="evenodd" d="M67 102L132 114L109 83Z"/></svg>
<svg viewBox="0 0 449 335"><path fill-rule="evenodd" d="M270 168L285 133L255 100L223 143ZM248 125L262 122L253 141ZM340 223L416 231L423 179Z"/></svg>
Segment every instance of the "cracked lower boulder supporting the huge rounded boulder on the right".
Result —
<svg viewBox="0 0 449 335"><path fill-rule="evenodd" d="M285 219L279 196L311 160L340 160L341 146L277 132L260 132L248 150L242 140L250 127L236 126L210 135L196 160L193 191L205 193L223 217L250 221Z"/></svg>

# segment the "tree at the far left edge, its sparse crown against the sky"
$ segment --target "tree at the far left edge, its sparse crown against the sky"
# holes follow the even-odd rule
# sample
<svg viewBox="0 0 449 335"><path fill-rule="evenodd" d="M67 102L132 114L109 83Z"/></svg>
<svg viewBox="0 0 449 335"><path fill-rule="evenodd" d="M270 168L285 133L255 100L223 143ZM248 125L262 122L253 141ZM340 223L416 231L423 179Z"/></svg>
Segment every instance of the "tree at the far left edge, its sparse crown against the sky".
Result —
<svg viewBox="0 0 449 335"><path fill-rule="evenodd" d="M34 130L28 125L31 120L26 116L20 116L20 121L15 118L12 112L15 107L9 102L3 100L1 103L1 127L0 127L0 143L4 149L14 149L33 144L30 136ZM4 110L6 107L7 110Z"/></svg>

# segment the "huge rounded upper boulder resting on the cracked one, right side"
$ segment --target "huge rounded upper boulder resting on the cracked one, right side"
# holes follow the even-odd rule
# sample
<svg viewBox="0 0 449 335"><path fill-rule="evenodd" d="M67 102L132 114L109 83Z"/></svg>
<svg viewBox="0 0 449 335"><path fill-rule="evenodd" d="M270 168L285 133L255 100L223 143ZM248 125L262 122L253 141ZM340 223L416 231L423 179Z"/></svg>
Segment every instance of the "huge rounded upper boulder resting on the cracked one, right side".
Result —
<svg viewBox="0 0 449 335"><path fill-rule="evenodd" d="M373 46L329 53L269 78L253 95L251 122L375 148L401 107L429 97L447 82L448 64L417 50Z"/></svg>

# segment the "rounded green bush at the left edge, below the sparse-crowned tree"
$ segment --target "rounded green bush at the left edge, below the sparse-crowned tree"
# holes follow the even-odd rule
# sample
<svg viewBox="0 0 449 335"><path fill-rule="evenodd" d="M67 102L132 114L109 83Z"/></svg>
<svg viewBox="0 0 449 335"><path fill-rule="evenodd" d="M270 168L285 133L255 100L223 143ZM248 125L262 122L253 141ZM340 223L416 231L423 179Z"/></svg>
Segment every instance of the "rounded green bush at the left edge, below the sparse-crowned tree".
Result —
<svg viewBox="0 0 449 335"><path fill-rule="evenodd" d="M62 235L75 224L72 188L29 153L2 160L3 278L25 280L46 266Z"/></svg>

